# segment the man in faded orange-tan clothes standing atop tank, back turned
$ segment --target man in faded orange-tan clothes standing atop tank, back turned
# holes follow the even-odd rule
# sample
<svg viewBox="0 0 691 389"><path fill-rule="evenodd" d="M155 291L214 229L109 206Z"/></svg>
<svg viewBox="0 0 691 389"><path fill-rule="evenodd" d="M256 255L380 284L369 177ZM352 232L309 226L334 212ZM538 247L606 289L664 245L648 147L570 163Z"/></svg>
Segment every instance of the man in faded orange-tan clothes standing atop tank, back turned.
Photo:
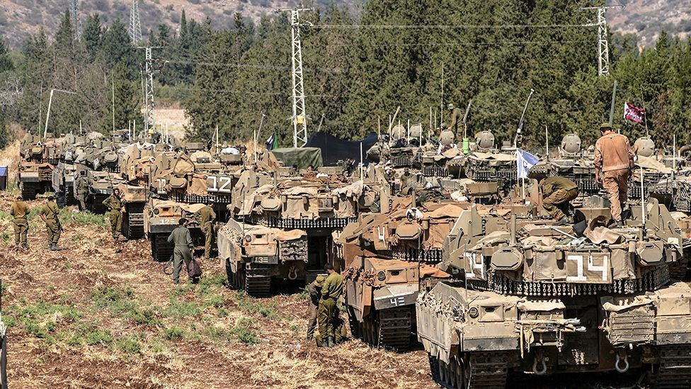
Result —
<svg viewBox="0 0 691 389"><path fill-rule="evenodd" d="M600 125L602 135L595 142L595 181L605 188L615 227L622 225L622 205L627 202L628 181L634 168L629 139L612 132L612 125Z"/></svg>

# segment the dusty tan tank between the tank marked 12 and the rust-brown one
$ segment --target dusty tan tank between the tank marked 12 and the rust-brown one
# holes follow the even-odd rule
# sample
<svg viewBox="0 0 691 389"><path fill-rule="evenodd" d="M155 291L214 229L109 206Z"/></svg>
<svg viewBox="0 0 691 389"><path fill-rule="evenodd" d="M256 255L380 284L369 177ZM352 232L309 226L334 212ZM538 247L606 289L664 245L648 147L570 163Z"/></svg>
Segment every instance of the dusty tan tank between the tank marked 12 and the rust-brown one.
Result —
<svg viewBox="0 0 691 389"><path fill-rule="evenodd" d="M219 252L226 253L222 260L229 269L229 281L244 279L246 282L236 283L236 287L257 296L268 293L272 278L312 281L324 264L333 261L332 233L355 220L361 195L362 181L346 185L333 176L316 174L278 181L275 173L271 176L254 169L243 171L232 188L229 212L243 222L241 230L253 232L243 235L249 239L246 242L261 242L263 247L278 251L268 261L265 254L257 254L253 245L237 247L239 227L227 225L219 232L218 244ZM294 230L302 230L306 235L297 241L281 238ZM302 246L297 254L285 256L290 251L281 251L285 244ZM230 245L234 245L233 250L220 249ZM230 252L240 254L229 256Z"/></svg>

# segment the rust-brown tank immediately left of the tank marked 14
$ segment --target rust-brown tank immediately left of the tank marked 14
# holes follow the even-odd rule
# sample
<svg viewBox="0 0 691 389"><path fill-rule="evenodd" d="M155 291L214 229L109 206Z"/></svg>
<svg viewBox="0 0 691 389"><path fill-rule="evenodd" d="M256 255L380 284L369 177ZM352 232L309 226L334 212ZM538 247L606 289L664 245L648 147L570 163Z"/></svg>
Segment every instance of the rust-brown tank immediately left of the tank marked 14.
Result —
<svg viewBox="0 0 691 389"><path fill-rule="evenodd" d="M462 207L455 203L411 206L397 198L389 213L351 222L338 237L345 269L345 303L351 331L373 346L406 351L415 331L418 291L449 275L442 261L444 237Z"/></svg>

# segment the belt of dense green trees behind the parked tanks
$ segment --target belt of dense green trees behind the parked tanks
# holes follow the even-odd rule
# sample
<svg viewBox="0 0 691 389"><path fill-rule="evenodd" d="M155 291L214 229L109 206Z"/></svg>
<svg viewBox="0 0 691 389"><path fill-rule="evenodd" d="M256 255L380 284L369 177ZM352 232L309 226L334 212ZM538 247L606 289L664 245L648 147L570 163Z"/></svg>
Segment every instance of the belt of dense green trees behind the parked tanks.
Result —
<svg viewBox="0 0 691 389"><path fill-rule="evenodd" d="M428 127L430 108L440 121L447 103L472 99L471 132L491 130L513 139L530 89L524 139L541 144L578 133L586 142L607 120L618 81L615 124L637 137L646 126L624 123L624 101L645 108L650 135L661 144L689 142L691 44L662 33L641 51L635 35L610 35L612 69L598 77L597 30L581 6L556 0L369 0L355 18L328 6L302 14L309 130L357 138L388 125L401 107L402 123ZM0 45L4 123L37 128L54 96L49 130L107 132L142 123L141 69L152 45L156 98L179 102L192 125L188 137L207 139L216 125L224 140L251 137L262 114L263 133L276 130L292 143L290 21L287 14L252 23L236 13L232 27L212 28L181 13L178 26L161 24L148 42L132 43L120 21L108 26L89 16L76 36L65 13L55 32L40 31L21 52ZM113 104L113 91L115 104ZM442 111L442 107L444 108ZM441 111L441 112L440 112ZM41 119L39 115L42 114ZM446 118L447 119L447 118ZM45 123L44 123L45 124ZM7 135L3 135L6 137ZM3 138L0 137L0 140Z"/></svg>

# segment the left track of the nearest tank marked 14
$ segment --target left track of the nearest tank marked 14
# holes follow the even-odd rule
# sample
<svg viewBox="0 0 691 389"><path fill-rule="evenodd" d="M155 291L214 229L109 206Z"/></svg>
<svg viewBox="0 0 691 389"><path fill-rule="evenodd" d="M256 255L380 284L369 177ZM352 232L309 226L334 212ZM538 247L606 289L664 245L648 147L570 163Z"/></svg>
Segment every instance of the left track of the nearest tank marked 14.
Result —
<svg viewBox="0 0 691 389"><path fill-rule="evenodd" d="M464 356L466 363L453 359L445 363L430 357L433 379L449 389L504 389L508 376L507 354L477 351Z"/></svg>

